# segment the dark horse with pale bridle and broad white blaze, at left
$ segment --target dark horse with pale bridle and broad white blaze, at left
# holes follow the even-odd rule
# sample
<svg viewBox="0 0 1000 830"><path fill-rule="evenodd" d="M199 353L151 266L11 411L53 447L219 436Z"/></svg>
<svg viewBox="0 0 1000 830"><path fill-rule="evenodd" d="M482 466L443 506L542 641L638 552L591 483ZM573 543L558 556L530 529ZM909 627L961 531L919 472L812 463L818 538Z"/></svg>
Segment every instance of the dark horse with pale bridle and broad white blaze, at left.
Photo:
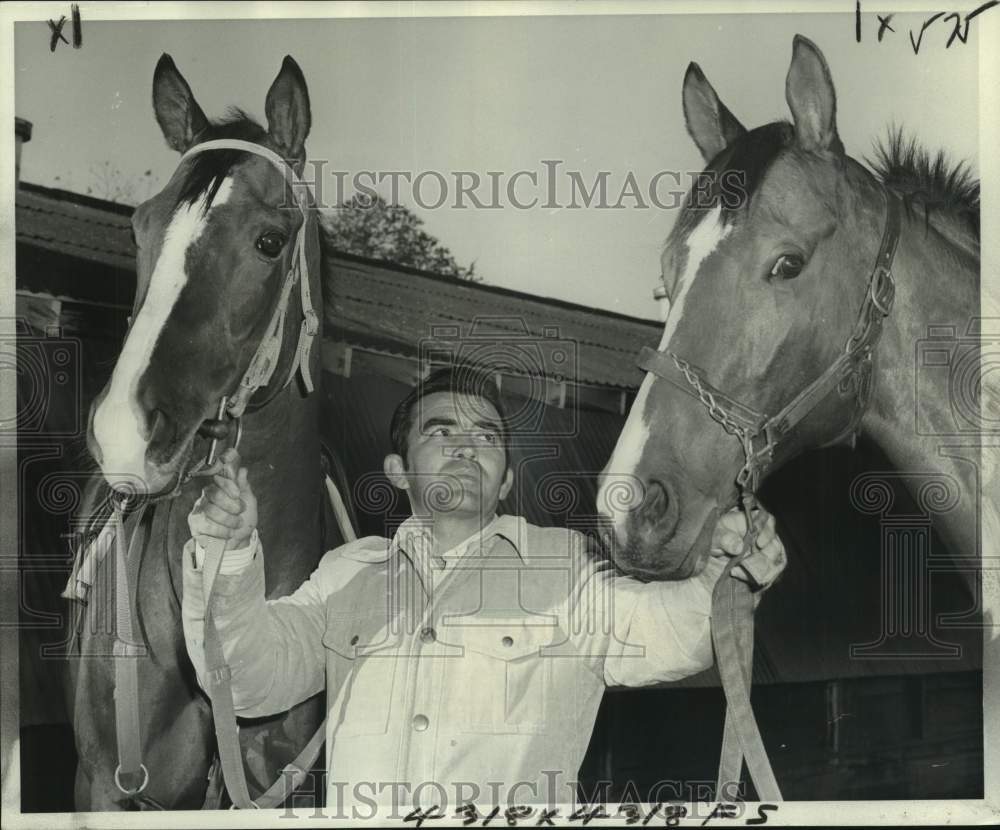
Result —
<svg viewBox="0 0 1000 830"><path fill-rule="evenodd" d="M69 690L79 810L222 803L217 772L212 786L209 781L217 770L212 710L187 656L180 613L187 515L207 483L192 476L196 459L214 454L208 448L219 442L239 442L259 500L269 597L297 588L323 552L344 541L323 495L321 396L309 394L321 378L319 349L303 348L322 337L322 315L307 307L322 291L316 205L302 201L280 170L287 162L301 174L305 165L311 111L302 71L284 59L267 93L265 129L237 109L209 121L163 55L153 77L153 109L167 144L184 155L163 190L132 216L133 317L87 428L103 488L112 499L129 493L133 504L148 506L141 519L131 513L123 530L144 647L135 662L145 780L133 775L123 782L117 769L115 611L113 604L91 601L77 628ZM220 140L222 148L206 144ZM289 290L296 269L302 291ZM297 367L301 382L293 382ZM266 385L247 385L255 372ZM242 416L239 432L220 406L226 400L229 414ZM103 519L109 502L97 500L103 513L94 515ZM103 581L114 584L112 559L98 565L98 584L102 570ZM321 697L279 717L242 723L251 793L278 778L316 731Z"/></svg>

